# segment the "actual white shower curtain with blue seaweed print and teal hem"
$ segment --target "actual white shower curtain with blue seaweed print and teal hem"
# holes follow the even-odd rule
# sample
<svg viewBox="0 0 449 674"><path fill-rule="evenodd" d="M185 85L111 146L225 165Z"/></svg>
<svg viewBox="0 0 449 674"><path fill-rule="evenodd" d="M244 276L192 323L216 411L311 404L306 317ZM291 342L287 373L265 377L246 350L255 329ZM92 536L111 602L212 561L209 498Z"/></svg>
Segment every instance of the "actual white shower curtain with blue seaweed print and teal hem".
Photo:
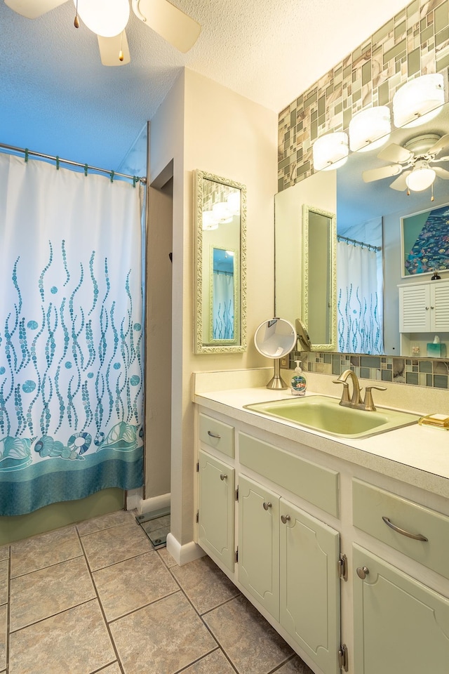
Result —
<svg viewBox="0 0 449 674"><path fill-rule="evenodd" d="M0 154L0 515L142 485L140 189Z"/></svg>

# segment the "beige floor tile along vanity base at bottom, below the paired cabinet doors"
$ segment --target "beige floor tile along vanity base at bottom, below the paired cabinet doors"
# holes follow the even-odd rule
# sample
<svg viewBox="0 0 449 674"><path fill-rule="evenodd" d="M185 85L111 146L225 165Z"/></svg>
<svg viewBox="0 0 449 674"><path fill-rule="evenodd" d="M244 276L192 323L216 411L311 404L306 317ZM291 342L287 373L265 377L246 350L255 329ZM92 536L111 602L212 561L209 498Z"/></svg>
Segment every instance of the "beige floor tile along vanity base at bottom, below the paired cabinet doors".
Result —
<svg viewBox="0 0 449 674"><path fill-rule="evenodd" d="M203 620L241 674L267 674L293 654L242 595L213 609Z"/></svg>

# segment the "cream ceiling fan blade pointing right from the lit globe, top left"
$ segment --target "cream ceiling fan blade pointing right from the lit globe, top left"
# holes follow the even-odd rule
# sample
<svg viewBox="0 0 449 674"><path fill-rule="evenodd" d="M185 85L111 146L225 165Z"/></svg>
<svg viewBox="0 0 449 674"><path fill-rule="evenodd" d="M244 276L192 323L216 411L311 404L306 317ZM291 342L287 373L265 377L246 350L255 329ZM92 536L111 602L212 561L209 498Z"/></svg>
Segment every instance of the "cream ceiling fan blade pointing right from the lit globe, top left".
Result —
<svg viewBox="0 0 449 674"><path fill-rule="evenodd" d="M168 0L133 0L135 15L183 53L198 39L201 26Z"/></svg>

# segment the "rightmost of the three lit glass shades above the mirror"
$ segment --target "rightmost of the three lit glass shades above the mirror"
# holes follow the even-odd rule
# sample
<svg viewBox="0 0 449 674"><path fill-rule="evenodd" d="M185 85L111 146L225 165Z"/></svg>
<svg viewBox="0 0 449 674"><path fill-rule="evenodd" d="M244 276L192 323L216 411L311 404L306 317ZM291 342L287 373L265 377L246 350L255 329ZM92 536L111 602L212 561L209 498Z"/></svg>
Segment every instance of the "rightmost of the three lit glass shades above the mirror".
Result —
<svg viewBox="0 0 449 674"><path fill-rule="evenodd" d="M393 98L395 126L410 128L436 117L444 103L443 75L431 73L401 86Z"/></svg>

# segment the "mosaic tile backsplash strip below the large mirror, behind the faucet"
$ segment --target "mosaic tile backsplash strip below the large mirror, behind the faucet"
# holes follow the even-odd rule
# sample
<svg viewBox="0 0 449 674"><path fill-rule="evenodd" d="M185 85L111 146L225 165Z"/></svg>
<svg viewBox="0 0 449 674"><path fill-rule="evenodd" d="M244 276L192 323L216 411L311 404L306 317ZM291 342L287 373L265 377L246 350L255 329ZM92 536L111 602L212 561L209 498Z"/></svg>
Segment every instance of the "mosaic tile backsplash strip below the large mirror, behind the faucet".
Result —
<svg viewBox="0 0 449 674"><path fill-rule="evenodd" d="M449 362L445 360L293 351L290 369L295 368L297 359L302 361L304 371L317 374L339 376L344 370L351 369L361 379L449 388Z"/></svg>

